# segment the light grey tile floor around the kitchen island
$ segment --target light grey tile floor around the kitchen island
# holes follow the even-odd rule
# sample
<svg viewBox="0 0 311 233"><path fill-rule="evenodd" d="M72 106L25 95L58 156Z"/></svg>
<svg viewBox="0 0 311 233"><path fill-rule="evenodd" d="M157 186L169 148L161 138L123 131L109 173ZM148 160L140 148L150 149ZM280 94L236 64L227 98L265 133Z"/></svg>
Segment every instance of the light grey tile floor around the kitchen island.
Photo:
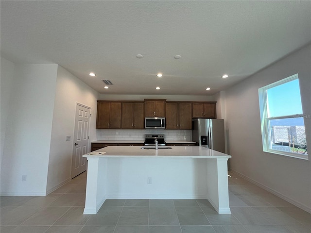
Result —
<svg viewBox="0 0 311 233"><path fill-rule="evenodd" d="M83 215L86 172L45 197L1 197L1 233L311 233L311 214L229 172L231 215L207 200L106 200Z"/></svg>

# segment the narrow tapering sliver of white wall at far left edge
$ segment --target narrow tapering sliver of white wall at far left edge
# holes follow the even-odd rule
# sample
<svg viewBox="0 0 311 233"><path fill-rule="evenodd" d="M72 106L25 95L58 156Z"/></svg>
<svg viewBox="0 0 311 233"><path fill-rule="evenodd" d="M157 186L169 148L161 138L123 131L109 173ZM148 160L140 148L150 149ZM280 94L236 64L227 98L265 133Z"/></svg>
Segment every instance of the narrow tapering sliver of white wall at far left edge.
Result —
<svg viewBox="0 0 311 233"><path fill-rule="evenodd" d="M14 94L13 90L13 80L14 80L14 66L15 64L1 58L1 85L0 85L0 113L1 113L1 122L0 122L0 132L1 132L1 164L2 164L2 155L3 155L3 145L4 145L4 138L5 138L5 131L6 131L6 123L8 118L8 113L10 110L10 97Z"/></svg>

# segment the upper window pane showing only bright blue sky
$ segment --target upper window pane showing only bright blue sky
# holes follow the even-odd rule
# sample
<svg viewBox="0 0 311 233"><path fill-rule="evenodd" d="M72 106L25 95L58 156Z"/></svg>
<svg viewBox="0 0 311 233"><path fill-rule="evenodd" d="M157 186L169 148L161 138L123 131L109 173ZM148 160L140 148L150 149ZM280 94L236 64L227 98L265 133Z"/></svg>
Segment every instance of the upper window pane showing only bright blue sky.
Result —
<svg viewBox="0 0 311 233"><path fill-rule="evenodd" d="M268 117L302 114L298 79L267 89L267 99Z"/></svg>

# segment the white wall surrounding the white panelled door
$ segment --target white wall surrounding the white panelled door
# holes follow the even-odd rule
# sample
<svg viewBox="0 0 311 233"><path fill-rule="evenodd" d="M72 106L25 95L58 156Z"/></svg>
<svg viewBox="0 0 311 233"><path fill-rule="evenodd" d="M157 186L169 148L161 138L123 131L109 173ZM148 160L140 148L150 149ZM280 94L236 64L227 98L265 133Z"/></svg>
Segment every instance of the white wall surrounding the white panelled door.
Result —
<svg viewBox="0 0 311 233"><path fill-rule="evenodd" d="M98 92L58 66L49 157L47 193L70 180L76 104L91 107L89 142L96 140ZM66 136L71 136L66 141ZM89 149L90 150L90 143Z"/></svg>

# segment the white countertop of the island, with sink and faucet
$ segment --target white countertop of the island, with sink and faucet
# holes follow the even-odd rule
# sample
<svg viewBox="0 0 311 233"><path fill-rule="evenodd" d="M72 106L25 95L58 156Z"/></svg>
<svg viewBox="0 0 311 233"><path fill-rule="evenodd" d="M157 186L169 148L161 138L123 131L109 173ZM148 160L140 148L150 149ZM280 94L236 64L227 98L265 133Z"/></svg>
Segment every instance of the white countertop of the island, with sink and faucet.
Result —
<svg viewBox="0 0 311 233"><path fill-rule="evenodd" d="M231 155L210 150L205 147L172 147L172 149L141 149L143 146L108 146L92 152L105 152L99 155L85 154L86 158L108 158L108 157L144 157L144 158L231 158ZM161 147L159 147L161 148ZM92 153L90 152L90 153Z"/></svg>

